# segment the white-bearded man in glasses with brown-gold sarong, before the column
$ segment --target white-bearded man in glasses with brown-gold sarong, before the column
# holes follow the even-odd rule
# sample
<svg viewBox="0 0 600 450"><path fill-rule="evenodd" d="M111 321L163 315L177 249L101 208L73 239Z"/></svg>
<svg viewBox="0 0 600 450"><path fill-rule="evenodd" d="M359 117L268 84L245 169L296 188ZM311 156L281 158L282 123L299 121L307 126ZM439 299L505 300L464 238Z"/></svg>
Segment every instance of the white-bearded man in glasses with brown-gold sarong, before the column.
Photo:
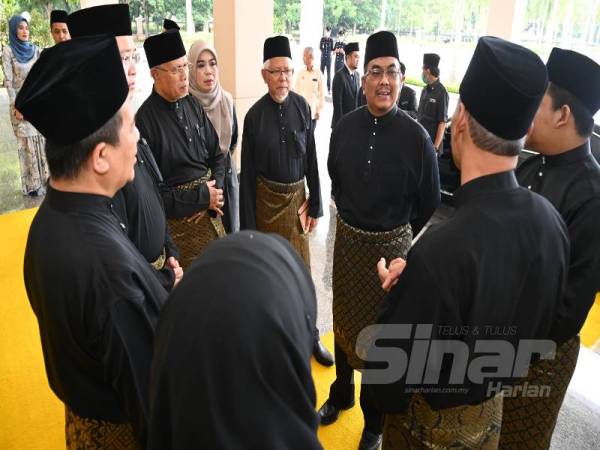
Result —
<svg viewBox="0 0 600 450"><path fill-rule="evenodd" d="M266 39L262 77L269 92L244 119L240 228L279 234L310 270L308 234L316 228L323 207L310 107L291 91L293 74L288 39ZM333 364L318 330L313 354L321 364Z"/></svg>

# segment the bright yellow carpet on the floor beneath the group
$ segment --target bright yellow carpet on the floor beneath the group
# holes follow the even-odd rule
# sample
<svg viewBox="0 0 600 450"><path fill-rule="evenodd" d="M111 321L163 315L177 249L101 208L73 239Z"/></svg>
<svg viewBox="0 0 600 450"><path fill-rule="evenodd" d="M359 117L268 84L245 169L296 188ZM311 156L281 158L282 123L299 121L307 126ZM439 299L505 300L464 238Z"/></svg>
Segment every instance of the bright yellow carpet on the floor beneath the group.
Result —
<svg viewBox="0 0 600 450"><path fill-rule="evenodd" d="M0 449L64 449L64 407L48 386L37 321L23 286L23 252L34 209L0 216ZM587 347L600 342L600 295L581 333ZM323 341L333 349L333 336ZM358 375L358 374L357 374ZM335 368L313 361L317 406L329 394ZM357 376L357 381L359 380ZM358 386L357 386L358 387ZM363 419L358 406L319 429L326 450L357 448Z"/></svg>

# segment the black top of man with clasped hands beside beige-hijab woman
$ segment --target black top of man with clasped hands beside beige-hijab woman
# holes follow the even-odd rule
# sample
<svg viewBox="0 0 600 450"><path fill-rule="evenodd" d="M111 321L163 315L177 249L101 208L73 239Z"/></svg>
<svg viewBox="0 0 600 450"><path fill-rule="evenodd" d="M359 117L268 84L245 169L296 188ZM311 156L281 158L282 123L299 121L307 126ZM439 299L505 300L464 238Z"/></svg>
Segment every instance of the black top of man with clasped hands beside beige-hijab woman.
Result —
<svg viewBox="0 0 600 450"><path fill-rule="evenodd" d="M191 190L176 189L203 177L208 169L216 187L223 189L225 156L198 101L188 94L169 102L152 90L140 106L135 123L164 178L161 191L167 218L181 219L207 209L210 193L206 184Z"/></svg>

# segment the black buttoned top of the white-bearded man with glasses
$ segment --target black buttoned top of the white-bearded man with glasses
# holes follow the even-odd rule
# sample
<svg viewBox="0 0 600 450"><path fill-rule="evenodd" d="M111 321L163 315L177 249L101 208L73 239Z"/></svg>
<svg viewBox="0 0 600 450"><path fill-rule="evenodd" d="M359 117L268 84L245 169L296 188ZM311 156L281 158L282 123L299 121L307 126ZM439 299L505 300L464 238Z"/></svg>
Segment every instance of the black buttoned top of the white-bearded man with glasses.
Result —
<svg viewBox="0 0 600 450"><path fill-rule="evenodd" d="M310 107L290 92L283 103L265 94L250 108L242 135L240 228L256 228L256 180L295 183L306 176L308 215L323 215L314 129Z"/></svg>

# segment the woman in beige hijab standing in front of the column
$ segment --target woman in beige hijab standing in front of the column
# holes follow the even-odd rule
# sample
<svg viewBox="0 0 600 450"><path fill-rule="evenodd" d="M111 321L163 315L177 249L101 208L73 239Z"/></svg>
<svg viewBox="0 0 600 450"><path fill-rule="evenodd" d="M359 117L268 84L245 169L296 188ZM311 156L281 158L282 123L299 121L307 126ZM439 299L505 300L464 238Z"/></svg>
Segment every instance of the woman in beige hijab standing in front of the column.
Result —
<svg viewBox="0 0 600 450"><path fill-rule="evenodd" d="M238 126L233 97L221 87L217 52L204 41L196 41L188 52L190 93L200 102L219 136L225 155L225 206L222 217L227 233L240 229L239 182L233 162Z"/></svg>

